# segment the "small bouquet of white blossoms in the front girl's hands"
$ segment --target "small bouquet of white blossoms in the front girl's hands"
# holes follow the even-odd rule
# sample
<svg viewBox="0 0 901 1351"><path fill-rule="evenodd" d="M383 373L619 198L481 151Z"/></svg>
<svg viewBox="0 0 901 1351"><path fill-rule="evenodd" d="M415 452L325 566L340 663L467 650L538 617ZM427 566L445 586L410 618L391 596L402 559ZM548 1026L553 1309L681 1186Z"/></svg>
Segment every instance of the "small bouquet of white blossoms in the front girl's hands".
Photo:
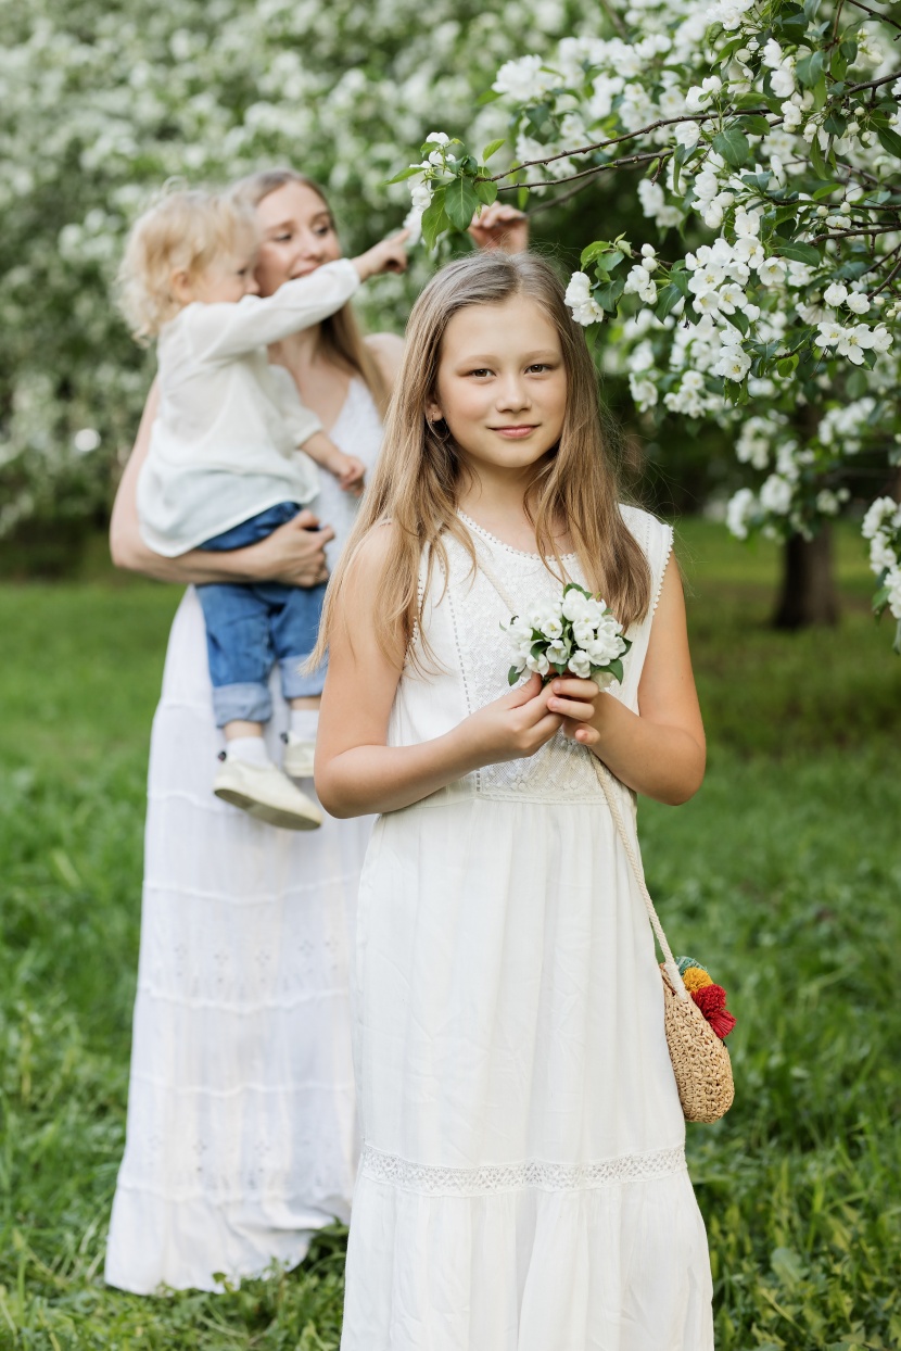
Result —
<svg viewBox="0 0 901 1351"><path fill-rule="evenodd" d="M555 676L593 680L608 689L623 680L623 657L632 646L607 603L577 582L567 582L557 601L542 601L527 615L513 615L501 624L515 648L508 680L515 685L523 671L535 671L544 682Z"/></svg>

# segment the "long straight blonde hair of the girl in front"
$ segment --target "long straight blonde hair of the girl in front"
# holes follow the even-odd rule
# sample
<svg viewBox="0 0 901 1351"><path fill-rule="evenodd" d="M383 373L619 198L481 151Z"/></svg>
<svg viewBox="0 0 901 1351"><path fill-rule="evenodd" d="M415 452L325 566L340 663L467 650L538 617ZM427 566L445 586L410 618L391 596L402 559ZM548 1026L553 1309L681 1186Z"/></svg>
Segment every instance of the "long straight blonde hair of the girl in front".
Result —
<svg viewBox="0 0 901 1351"><path fill-rule="evenodd" d="M571 319L554 269L534 254L484 253L451 262L428 282L407 327L404 363L388 412L385 442L361 512L330 582L319 646L311 665L324 655L335 624L338 600L359 546L373 527L390 524L382 574L376 588L376 634L390 654L398 636L408 646L420 615L419 567L428 546L434 565L447 576L444 532L467 550L469 531L457 515L465 466L447 427L426 415L436 397L442 340L450 320L469 305L500 305L528 296L551 320L566 370L566 413L561 439L535 466L525 504L538 549L548 570L566 577L557 538L573 540L589 584L628 627L647 613L651 577L647 559L619 509L616 466L601 430L594 363L582 328ZM423 643L428 655L428 647ZM420 666L416 650L411 659Z"/></svg>

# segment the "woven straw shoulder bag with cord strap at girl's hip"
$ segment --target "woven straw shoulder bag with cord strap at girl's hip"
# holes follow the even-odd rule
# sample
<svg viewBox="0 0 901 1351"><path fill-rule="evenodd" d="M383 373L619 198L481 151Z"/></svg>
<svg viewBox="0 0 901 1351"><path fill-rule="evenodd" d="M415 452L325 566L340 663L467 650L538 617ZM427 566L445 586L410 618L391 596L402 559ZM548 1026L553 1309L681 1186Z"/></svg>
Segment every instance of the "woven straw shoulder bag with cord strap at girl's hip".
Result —
<svg viewBox="0 0 901 1351"><path fill-rule="evenodd" d="M635 881L644 900L647 917L651 928L661 944L661 951L666 961L661 962L661 975L663 978L663 1024L666 1027L666 1042L670 1048L673 1074L679 1093L679 1102L686 1121L719 1121L732 1106L735 1086L732 1084L732 1062L724 1043L716 1035L700 1008L685 989L685 982L679 975L670 944L661 924L651 893L644 881L644 871L635 847L628 838L613 775L596 759L597 777L604 789L607 805L616 824L617 834L623 842L623 848L632 866Z"/></svg>

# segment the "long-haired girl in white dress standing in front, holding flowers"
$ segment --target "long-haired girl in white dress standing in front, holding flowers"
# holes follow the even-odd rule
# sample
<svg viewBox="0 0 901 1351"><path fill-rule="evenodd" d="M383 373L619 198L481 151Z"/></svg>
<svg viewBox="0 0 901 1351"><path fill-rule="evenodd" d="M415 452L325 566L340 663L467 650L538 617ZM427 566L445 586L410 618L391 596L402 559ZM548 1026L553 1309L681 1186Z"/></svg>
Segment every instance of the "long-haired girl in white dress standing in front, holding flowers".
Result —
<svg viewBox="0 0 901 1351"><path fill-rule="evenodd" d="M594 370L543 262L426 288L326 604L316 786L380 812L354 971L362 1156L343 1351L709 1351L652 934L601 788L682 802L704 732L671 531L617 503ZM507 686L565 580L621 686Z"/></svg>

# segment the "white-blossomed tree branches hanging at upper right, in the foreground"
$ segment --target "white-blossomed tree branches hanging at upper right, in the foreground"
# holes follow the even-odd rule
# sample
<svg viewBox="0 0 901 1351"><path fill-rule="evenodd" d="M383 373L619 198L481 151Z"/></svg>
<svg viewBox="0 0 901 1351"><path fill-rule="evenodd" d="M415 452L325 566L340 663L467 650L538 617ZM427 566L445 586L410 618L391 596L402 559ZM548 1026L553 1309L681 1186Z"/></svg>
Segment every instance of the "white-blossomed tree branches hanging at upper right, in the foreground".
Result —
<svg viewBox="0 0 901 1351"><path fill-rule="evenodd" d="M507 141L430 135L397 176L412 222L434 246L498 197L565 201L643 170L654 239L588 240L574 319L639 412L733 434L751 476L728 504L738 538L813 540L866 469L874 609L901 651L901 23L860 0L605 12L609 36L501 66L486 100L508 103ZM689 230L709 242L686 250Z"/></svg>

